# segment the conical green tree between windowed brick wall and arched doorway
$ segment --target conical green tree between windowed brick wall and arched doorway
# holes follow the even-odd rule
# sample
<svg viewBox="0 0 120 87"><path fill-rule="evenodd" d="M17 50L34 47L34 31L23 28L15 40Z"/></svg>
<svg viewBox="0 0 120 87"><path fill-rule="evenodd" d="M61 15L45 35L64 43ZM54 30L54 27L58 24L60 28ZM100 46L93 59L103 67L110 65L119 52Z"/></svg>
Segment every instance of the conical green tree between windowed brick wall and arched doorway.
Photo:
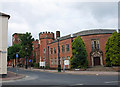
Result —
<svg viewBox="0 0 120 87"><path fill-rule="evenodd" d="M71 68L87 68L88 59L85 44L80 36L72 42Z"/></svg>

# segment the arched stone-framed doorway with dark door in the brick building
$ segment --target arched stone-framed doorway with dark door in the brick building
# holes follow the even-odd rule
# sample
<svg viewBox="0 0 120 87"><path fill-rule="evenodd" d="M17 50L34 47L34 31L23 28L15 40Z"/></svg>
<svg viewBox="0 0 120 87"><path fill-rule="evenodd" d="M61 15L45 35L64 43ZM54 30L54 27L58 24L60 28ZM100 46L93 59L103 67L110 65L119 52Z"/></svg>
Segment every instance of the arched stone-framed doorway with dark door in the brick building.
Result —
<svg viewBox="0 0 120 87"><path fill-rule="evenodd" d="M91 52L91 64L92 66L103 66L102 52Z"/></svg>

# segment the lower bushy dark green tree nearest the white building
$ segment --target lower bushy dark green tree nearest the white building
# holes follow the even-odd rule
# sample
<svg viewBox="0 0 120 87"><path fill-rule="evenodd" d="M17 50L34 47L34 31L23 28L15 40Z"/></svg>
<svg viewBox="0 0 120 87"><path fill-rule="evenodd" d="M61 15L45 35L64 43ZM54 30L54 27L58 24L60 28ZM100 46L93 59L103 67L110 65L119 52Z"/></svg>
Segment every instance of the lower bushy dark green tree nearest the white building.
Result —
<svg viewBox="0 0 120 87"><path fill-rule="evenodd" d="M8 56L7 56L8 60L15 59L17 53L20 58L21 57L20 50L21 50L20 44L15 44L15 45L9 47L8 48Z"/></svg>

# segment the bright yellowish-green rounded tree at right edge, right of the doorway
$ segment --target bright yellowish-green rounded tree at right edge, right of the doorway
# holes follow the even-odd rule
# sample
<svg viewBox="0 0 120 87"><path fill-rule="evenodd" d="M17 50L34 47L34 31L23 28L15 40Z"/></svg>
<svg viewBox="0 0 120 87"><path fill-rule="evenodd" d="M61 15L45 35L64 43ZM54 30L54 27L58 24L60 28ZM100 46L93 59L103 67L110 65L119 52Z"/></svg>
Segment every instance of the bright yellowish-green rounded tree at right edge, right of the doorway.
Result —
<svg viewBox="0 0 120 87"><path fill-rule="evenodd" d="M120 66L120 33L114 32L105 46L106 66Z"/></svg>

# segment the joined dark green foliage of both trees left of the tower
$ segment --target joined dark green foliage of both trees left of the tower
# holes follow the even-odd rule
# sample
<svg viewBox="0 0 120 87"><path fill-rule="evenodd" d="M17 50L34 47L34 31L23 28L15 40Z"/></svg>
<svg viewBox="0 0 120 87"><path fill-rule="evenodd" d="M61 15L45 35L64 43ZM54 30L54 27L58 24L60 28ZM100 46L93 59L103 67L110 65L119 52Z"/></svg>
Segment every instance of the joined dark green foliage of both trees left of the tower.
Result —
<svg viewBox="0 0 120 87"><path fill-rule="evenodd" d="M8 48L8 60L15 59L16 53L19 54L19 58L25 58L25 56L30 57L32 54L32 42L34 38L32 38L31 33L26 32L26 34L19 35L20 43L14 44ZM27 48L27 49L25 49Z"/></svg>

